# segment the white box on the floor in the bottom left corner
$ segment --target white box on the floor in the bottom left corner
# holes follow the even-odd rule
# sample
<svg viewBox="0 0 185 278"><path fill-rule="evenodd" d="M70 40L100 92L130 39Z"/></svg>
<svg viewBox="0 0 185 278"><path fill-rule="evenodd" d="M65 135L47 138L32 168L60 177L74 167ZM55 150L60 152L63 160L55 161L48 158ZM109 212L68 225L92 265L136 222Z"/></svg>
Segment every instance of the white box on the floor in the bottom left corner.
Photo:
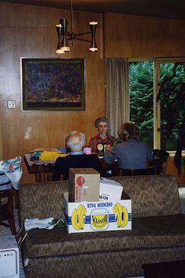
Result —
<svg viewBox="0 0 185 278"><path fill-rule="evenodd" d="M19 277L18 246L14 235L0 237L0 277Z"/></svg>

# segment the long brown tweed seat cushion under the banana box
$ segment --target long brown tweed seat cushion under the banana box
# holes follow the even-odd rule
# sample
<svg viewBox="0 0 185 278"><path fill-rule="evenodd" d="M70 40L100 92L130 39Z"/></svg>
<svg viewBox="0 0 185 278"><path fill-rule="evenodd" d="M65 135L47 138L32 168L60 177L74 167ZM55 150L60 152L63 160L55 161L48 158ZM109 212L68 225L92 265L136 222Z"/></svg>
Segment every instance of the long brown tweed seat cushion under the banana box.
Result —
<svg viewBox="0 0 185 278"><path fill-rule="evenodd" d="M69 234L62 228L32 229L25 244L29 257L185 246L185 215L134 218L131 231Z"/></svg>

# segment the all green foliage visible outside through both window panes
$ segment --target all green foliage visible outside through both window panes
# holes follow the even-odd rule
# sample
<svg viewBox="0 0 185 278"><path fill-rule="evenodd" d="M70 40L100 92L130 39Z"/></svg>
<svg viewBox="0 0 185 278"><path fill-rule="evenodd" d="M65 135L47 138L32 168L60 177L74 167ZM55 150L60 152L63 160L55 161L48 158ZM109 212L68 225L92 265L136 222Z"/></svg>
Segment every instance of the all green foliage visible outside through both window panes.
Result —
<svg viewBox="0 0 185 278"><path fill-rule="evenodd" d="M177 151L174 163L180 175L185 149L185 63L162 62L158 86L161 149ZM130 120L140 126L143 141L153 148L153 62L130 63Z"/></svg>

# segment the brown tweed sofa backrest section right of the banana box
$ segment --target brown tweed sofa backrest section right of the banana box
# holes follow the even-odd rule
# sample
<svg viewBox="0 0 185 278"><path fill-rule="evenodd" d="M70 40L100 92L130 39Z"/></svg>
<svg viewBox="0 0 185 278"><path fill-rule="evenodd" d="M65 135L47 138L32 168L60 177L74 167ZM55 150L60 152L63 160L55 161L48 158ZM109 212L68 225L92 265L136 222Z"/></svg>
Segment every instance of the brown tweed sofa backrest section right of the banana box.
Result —
<svg viewBox="0 0 185 278"><path fill-rule="evenodd" d="M181 213L175 176L119 176L112 179L121 183L132 198L132 218Z"/></svg>

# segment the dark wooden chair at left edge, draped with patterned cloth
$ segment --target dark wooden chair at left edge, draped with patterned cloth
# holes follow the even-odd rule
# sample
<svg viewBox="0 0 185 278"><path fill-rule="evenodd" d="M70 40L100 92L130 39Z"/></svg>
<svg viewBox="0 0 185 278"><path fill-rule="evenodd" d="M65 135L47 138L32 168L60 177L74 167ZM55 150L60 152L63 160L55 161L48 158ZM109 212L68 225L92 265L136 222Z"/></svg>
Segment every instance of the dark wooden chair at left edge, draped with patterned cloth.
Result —
<svg viewBox="0 0 185 278"><path fill-rule="evenodd" d="M0 176L5 176L4 173L0 173ZM14 222L14 189L11 186L10 189L2 189L4 185L10 185L11 181L0 183L0 225L10 227L12 235L16 234L16 227ZM3 222L8 220L9 224Z"/></svg>

